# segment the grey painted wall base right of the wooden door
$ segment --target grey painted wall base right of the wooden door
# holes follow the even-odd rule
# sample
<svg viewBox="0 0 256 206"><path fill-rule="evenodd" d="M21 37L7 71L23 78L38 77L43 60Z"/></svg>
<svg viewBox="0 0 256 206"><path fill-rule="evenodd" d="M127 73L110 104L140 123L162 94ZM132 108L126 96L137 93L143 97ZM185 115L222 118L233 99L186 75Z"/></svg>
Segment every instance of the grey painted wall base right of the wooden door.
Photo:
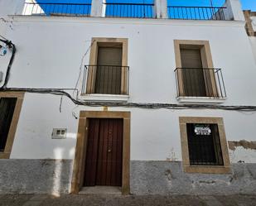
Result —
<svg viewBox="0 0 256 206"><path fill-rule="evenodd" d="M133 194L256 194L256 164L232 164L232 174L188 174L181 162L131 161Z"/></svg>

